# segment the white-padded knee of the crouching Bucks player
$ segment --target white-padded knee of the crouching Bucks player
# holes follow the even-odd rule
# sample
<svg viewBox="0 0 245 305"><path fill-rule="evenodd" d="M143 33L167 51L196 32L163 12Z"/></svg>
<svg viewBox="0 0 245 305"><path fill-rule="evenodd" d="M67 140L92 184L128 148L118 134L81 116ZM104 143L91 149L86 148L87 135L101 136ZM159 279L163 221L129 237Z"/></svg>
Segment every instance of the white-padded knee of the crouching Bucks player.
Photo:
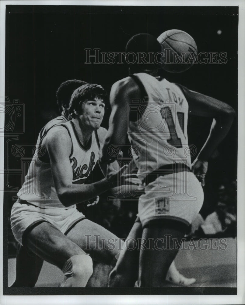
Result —
<svg viewBox="0 0 245 305"><path fill-rule="evenodd" d="M66 261L62 271L65 278L61 287L85 287L93 274L93 261L86 254L74 255Z"/></svg>

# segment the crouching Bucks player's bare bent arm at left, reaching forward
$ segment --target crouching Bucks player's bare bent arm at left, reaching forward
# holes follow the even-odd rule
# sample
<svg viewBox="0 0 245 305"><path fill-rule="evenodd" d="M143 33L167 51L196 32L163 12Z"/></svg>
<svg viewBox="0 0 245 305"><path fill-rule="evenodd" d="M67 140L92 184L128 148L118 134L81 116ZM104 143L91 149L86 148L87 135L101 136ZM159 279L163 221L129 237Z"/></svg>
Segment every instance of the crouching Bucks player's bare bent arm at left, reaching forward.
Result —
<svg viewBox="0 0 245 305"><path fill-rule="evenodd" d="M72 183L72 167L69 156L72 150L71 138L64 127L55 127L47 134L45 143L48 151L51 172L57 195L64 206L71 206L94 198L117 185L119 173L112 174L98 182L88 185L78 185Z"/></svg>

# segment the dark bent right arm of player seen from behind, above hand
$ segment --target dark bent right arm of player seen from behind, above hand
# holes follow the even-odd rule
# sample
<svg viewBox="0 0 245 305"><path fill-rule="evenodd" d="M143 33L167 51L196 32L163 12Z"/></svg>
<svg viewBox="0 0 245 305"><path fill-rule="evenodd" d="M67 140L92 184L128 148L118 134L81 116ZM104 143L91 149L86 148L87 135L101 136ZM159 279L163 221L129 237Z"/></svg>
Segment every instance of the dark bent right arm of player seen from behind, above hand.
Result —
<svg viewBox="0 0 245 305"><path fill-rule="evenodd" d="M208 138L197 157L198 160L208 160L227 135L236 115L235 110L228 104L210 96L191 91L181 85L178 86L188 101L189 114L213 118Z"/></svg>

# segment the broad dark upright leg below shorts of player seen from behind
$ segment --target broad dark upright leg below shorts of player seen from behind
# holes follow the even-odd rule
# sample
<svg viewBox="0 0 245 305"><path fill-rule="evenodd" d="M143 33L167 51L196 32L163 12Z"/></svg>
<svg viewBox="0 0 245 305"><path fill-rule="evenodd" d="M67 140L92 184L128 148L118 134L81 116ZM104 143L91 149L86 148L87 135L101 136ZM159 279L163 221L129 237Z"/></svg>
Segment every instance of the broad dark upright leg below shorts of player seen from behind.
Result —
<svg viewBox="0 0 245 305"><path fill-rule="evenodd" d="M143 229L139 260L138 287L163 287L167 271L177 255L185 229L177 221L172 224L149 222Z"/></svg>

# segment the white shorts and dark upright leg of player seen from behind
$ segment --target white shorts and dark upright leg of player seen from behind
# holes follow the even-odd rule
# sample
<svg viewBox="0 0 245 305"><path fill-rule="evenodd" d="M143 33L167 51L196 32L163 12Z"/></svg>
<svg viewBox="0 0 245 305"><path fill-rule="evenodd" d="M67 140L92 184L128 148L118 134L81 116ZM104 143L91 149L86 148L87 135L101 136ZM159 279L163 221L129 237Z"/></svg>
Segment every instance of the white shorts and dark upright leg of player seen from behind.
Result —
<svg viewBox="0 0 245 305"><path fill-rule="evenodd" d="M164 285L167 271L178 252L177 243L181 243L202 203L203 190L191 172L160 176L145 187L138 209L144 242L140 251L138 286Z"/></svg>

